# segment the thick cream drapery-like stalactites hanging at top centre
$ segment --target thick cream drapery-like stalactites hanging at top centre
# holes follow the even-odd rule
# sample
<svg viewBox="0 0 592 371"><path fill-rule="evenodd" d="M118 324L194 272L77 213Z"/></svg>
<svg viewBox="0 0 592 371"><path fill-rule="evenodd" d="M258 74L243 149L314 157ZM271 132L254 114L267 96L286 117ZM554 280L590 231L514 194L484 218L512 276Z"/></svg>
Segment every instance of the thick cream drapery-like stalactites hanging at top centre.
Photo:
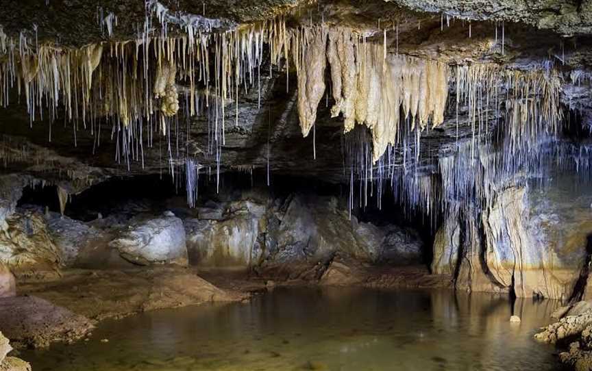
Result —
<svg viewBox="0 0 592 371"><path fill-rule="evenodd" d="M308 135L325 94L325 67L330 66L333 117L342 115L344 132L358 125L371 129L373 162L396 144L399 122L412 129L443 123L449 67L436 60L395 55L351 29L303 27L295 34L293 53L298 75L302 133Z"/></svg>

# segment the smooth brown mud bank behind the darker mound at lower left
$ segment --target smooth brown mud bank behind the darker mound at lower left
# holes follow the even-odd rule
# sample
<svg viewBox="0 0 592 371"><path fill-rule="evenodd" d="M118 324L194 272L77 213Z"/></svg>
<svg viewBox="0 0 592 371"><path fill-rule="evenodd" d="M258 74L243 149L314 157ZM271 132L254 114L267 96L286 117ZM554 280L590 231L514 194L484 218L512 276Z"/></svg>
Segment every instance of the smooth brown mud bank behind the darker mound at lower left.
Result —
<svg viewBox="0 0 592 371"><path fill-rule="evenodd" d="M192 270L175 267L67 270L59 281L23 284L19 290L21 294L51 300L93 321L247 297L240 292L221 290Z"/></svg>

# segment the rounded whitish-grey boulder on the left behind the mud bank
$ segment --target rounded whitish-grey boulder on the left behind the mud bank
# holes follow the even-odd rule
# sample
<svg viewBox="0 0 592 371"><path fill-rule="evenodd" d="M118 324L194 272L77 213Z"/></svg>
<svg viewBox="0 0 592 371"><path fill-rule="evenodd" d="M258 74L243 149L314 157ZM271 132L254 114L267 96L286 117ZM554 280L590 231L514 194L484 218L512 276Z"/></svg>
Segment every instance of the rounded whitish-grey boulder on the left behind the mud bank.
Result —
<svg viewBox="0 0 592 371"><path fill-rule="evenodd" d="M188 264L183 222L171 212L162 217L134 222L119 238L109 242L123 259L140 266Z"/></svg>

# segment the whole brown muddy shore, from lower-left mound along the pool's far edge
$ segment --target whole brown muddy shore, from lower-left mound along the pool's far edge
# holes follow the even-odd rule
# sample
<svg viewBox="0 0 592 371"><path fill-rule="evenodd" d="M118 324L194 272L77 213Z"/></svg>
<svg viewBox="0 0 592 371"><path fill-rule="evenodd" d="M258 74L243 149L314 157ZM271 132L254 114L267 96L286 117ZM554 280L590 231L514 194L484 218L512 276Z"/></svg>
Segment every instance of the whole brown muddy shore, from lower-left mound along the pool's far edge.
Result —
<svg viewBox="0 0 592 371"><path fill-rule="evenodd" d="M155 266L67 269L59 279L21 282L16 298L0 299L3 333L17 347L43 347L85 337L108 318L156 309L249 300L275 287L450 288L451 278L425 266L370 267L334 261L319 265L244 268Z"/></svg>

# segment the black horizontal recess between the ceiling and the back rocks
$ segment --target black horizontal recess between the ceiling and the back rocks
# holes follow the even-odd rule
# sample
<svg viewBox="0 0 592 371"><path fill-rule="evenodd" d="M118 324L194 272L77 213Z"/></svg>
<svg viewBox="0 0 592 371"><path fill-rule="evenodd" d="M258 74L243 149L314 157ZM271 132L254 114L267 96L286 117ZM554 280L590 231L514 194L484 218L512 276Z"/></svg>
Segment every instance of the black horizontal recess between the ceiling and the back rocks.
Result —
<svg viewBox="0 0 592 371"><path fill-rule="evenodd" d="M268 187L265 173L257 170L221 173L219 193L216 192L215 182L215 175L208 176L206 172L200 176L197 204L195 208L190 208L187 205L184 183L173 182L168 175L113 177L92 185L79 194L71 194L64 215L73 220L90 223L110 216L116 216L116 220L158 216L167 210L182 219L200 218L204 207L219 207L245 197L254 197L265 203L274 200L275 203L282 203L299 194L312 200L334 198L337 201L337 209L343 213L343 218L349 218L349 185L277 174L273 176L273 182ZM377 229L390 230L396 227L402 231L402 236L408 236L399 236L399 239L403 238L403 241L397 240L399 242L419 240L421 256L417 261L399 261L395 255L395 258L379 259L375 263L384 266L411 263L429 267L432 262L434 221L419 212L404 211L404 206L395 201L391 192L385 192L382 197L382 208L379 209L375 198L371 198L365 207L354 204L351 216L362 225L375 226ZM314 204L314 201L312 202ZM47 207L49 212L59 213L60 203L56 185L27 186L18 201L18 206L23 205L36 205L41 210Z"/></svg>

